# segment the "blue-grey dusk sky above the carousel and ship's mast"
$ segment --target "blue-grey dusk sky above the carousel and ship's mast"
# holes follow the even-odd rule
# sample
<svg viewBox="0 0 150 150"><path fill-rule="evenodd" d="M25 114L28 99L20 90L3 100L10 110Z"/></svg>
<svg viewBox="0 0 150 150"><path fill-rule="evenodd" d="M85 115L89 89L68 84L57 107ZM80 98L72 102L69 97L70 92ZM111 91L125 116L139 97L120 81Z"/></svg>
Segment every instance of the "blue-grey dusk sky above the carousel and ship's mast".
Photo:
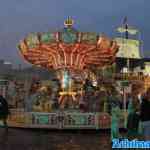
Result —
<svg viewBox="0 0 150 150"><path fill-rule="evenodd" d="M63 28L68 16L80 31L114 37L124 16L139 28L150 54L150 0L0 0L0 59L25 65L16 45L30 32Z"/></svg>

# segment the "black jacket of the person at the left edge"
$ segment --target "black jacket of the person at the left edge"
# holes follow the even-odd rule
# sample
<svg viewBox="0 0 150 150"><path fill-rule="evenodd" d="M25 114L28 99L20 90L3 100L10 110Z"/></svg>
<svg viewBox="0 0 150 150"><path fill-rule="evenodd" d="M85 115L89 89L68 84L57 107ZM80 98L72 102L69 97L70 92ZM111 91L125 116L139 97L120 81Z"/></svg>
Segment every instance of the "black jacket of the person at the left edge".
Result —
<svg viewBox="0 0 150 150"><path fill-rule="evenodd" d="M8 113L8 103L3 96L0 96L0 119L7 118Z"/></svg>

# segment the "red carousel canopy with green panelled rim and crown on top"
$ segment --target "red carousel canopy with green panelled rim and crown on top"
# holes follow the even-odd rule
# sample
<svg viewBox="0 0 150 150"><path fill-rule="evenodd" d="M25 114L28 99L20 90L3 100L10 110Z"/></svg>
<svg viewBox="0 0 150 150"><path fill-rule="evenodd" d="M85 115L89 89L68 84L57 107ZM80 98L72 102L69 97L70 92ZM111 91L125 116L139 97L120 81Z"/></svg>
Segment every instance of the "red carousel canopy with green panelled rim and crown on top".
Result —
<svg viewBox="0 0 150 150"><path fill-rule="evenodd" d="M81 70L90 65L105 66L115 61L117 43L95 32L79 32L73 20L65 21L57 32L30 33L19 43L28 62L53 69Z"/></svg>

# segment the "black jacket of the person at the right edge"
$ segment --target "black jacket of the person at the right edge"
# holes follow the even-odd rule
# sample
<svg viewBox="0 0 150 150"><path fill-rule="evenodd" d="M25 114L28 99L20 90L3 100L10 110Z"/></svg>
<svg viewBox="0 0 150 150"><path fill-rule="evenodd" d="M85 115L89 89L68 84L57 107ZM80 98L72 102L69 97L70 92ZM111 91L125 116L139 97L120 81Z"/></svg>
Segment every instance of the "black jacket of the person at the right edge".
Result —
<svg viewBox="0 0 150 150"><path fill-rule="evenodd" d="M146 98L141 103L140 119L141 121L150 121L150 101Z"/></svg>

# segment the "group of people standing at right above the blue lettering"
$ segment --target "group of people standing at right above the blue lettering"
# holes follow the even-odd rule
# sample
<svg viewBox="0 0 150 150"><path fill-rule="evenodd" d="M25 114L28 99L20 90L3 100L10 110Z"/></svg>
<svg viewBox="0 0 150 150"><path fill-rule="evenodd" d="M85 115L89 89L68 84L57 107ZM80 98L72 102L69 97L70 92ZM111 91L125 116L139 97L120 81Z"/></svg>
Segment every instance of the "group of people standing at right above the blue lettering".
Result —
<svg viewBox="0 0 150 150"><path fill-rule="evenodd" d="M127 128L129 136L142 133L146 140L150 140L150 88L130 99Z"/></svg>

